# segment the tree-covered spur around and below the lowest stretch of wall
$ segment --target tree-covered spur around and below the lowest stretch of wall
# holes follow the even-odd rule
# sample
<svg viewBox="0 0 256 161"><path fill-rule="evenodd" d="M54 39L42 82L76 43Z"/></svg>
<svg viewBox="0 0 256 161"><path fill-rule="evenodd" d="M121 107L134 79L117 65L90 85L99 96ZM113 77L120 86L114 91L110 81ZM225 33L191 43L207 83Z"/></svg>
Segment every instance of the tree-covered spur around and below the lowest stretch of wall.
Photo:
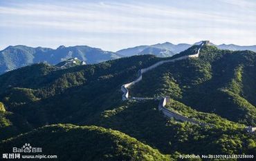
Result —
<svg viewBox="0 0 256 161"><path fill-rule="evenodd" d="M93 122L127 133L167 154L255 153L255 147L250 144L254 144L251 140L256 138L246 133L244 125L230 122L216 114L195 111L174 100L167 105L168 108L196 120L205 120L212 126L201 127L190 122L169 120L158 112L157 105L158 101L154 100L144 103L129 101L102 112ZM234 141L236 144L226 143Z"/></svg>

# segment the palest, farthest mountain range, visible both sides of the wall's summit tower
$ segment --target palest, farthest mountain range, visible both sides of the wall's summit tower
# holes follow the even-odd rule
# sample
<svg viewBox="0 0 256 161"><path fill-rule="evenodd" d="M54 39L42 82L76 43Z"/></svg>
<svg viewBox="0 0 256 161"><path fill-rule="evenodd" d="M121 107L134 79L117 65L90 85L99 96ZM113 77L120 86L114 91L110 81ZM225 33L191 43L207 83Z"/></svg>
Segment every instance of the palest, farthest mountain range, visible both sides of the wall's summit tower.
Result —
<svg viewBox="0 0 256 161"><path fill-rule="evenodd" d="M198 45L200 42L194 43L193 45ZM214 45L211 43L211 45ZM133 55L143 55L143 54L153 54L159 57L166 57L166 56L173 56L174 54L177 54L179 52L182 52L184 50L187 50L189 47L191 47L191 44L188 43L179 43L177 45L174 45L172 43L157 43L155 45L140 45L136 47L129 47L127 49L119 50L117 51L118 54L121 54L122 56L133 56ZM221 50L251 50L253 52L256 52L256 45L251 46L239 46L239 45L214 45L218 47Z"/></svg>

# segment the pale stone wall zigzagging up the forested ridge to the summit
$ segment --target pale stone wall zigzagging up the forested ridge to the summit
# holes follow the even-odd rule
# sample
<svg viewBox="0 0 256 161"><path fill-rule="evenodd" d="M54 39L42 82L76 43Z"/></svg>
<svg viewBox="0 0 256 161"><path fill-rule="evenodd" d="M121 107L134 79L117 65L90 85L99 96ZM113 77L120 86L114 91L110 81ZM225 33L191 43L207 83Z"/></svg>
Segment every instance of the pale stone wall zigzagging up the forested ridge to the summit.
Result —
<svg viewBox="0 0 256 161"><path fill-rule="evenodd" d="M167 109L165 107L165 105L167 104L167 102L170 100L169 98L165 97L165 98L139 98L139 97L129 97L129 90L128 87L131 87L132 85L140 82L143 80L143 74L145 72L148 72L149 70L152 70L160 65L163 65L164 63L170 63L170 62L175 62L175 61L180 61L186 58L197 58L199 57L199 53L201 50L201 47L203 47L203 45L205 45L205 43L207 43L207 41L202 41L201 45L199 45L199 49L197 50L196 54L192 54L192 55L186 55L186 56L181 56L179 58L174 58L171 60L166 60L166 61L159 61L158 63L155 63L154 65L151 65L149 67L143 68L138 70L138 74L137 74L137 78L132 81L131 83L127 83L122 85L121 90L123 92L122 94L122 100L159 100L160 99L160 103L158 105L158 110L162 111L163 114L168 117L168 118L175 118L176 120L181 120L181 121L188 121L188 122L192 122L194 124L198 124L198 125L205 125L205 123L202 122L198 122L196 120L193 120L191 118L187 118L185 116L181 116L180 114L177 114L174 111L170 111L170 109Z"/></svg>

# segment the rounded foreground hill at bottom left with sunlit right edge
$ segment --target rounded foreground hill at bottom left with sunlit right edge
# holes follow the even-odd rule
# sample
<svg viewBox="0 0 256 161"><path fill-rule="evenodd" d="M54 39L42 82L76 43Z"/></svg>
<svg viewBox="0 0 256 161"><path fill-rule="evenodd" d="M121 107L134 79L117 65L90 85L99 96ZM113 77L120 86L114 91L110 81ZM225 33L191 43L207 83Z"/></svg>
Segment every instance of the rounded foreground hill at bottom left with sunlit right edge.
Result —
<svg viewBox="0 0 256 161"><path fill-rule="evenodd" d="M21 142L42 147L44 155L54 153L58 160L170 160L170 157L125 133L95 126L42 127L0 142L0 153L10 152L13 145L22 147Z"/></svg>

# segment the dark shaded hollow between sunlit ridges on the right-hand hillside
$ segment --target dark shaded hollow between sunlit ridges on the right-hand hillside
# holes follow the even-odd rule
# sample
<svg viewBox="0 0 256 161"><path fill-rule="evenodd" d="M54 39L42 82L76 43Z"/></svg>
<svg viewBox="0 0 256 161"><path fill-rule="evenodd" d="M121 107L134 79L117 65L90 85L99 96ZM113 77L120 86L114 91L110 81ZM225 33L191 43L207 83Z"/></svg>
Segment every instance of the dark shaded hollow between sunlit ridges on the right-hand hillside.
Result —
<svg viewBox="0 0 256 161"><path fill-rule="evenodd" d="M232 96L222 91L234 78L234 69L239 65L238 61L230 61L230 57L223 56L214 61L211 64L212 78L186 89L180 101L198 111L218 114L235 122L243 120L246 111L234 102Z"/></svg>

